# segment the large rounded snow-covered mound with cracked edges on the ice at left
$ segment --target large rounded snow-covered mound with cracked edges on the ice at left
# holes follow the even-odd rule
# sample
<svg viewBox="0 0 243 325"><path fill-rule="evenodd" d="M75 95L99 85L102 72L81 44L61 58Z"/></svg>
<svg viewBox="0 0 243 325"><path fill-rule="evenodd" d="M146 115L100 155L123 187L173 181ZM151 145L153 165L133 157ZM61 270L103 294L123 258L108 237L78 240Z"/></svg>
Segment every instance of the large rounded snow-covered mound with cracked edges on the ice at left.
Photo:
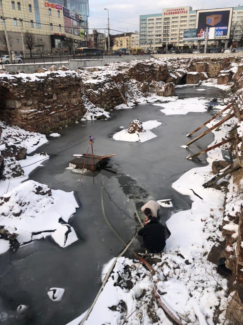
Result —
<svg viewBox="0 0 243 325"><path fill-rule="evenodd" d="M73 192L51 190L47 185L29 180L1 196L0 225L17 232L19 243L26 243L36 239L32 238L34 233L60 229L59 219L68 222L76 208L78 204ZM75 241L74 234L60 246L66 247Z"/></svg>

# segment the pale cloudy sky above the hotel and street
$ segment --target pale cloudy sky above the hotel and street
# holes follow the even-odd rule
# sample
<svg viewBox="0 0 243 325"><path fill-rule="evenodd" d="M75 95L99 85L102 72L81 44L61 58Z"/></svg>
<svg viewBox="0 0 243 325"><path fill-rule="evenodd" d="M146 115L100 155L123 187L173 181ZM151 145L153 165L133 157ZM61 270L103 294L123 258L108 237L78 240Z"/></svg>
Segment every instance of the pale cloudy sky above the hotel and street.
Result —
<svg viewBox="0 0 243 325"><path fill-rule="evenodd" d="M139 15L161 13L163 8L191 6L193 10L197 10L238 6L239 4L237 1L232 4L230 0L178 0L175 2L173 0L89 0L90 17L88 21L89 28L100 28L100 32L103 32L104 30L101 28L107 28L107 10L104 8L108 8L111 29L121 32L134 32L135 30L139 31ZM243 6L243 0L241 6ZM91 30L89 32L92 33ZM116 34L118 32L111 31L111 33Z"/></svg>

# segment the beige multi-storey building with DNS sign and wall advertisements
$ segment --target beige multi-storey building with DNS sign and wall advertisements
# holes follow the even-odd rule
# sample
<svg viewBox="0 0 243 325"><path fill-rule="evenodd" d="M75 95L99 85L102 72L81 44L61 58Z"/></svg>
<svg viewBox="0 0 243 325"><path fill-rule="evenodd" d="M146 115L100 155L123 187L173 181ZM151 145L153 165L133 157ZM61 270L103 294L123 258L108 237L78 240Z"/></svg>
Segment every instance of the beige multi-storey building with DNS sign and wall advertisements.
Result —
<svg viewBox="0 0 243 325"><path fill-rule="evenodd" d="M83 17L65 6L40 0L12 0L3 2L10 47L14 51L27 50L22 34L31 32L35 37L33 51L67 50L67 41L74 47L87 46L84 42ZM2 14L1 14L2 15ZM21 22L22 20L22 22ZM0 31L4 31L3 21ZM4 44L0 43L0 50Z"/></svg>

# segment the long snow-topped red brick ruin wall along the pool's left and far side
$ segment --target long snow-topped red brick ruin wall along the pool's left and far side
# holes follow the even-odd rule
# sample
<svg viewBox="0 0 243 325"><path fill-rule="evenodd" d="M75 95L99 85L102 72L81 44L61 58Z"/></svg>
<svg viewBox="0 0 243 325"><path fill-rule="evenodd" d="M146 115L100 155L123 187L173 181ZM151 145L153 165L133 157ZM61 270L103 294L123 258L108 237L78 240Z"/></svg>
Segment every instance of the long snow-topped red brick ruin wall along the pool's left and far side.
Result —
<svg viewBox="0 0 243 325"><path fill-rule="evenodd" d="M139 98L156 92L154 82L159 89L163 83L179 84L193 71L215 77L237 60L238 57L147 59L112 63L109 69L49 71L34 74L34 78L25 77L23 73L0 74L0 119L28 131L45 133L80 120L87 110L84 98L110 110L123 103L119 90L125 95L125 87ZM100 73L105 73L102 78ZM158 92L160 96L174 94L171 86L162 89L165 90Z"/></svg>

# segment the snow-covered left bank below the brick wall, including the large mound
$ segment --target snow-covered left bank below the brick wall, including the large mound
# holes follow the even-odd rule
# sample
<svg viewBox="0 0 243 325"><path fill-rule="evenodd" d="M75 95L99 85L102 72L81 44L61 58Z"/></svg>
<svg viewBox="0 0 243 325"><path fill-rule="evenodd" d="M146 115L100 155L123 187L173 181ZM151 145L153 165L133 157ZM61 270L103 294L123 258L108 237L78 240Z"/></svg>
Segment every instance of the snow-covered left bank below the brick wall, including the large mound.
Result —
<svg viewBox="0 0 243 325"><path fill-rule="evenodd" d="M0 122L0 126L1 143L26 148L27 153L47 142L46 137L39 133L3 122ZM1 145L1 150L5 150L6 145ZM52 236L58 245L65 248L78 240L72 227L59 222L63 220L67 223L78 208L73 192L51 190L44 184L27 180L29 173L48 157L46 154L34 154L19 160L24 171L24 175L19 177L12 177L11 170L4 170L9 174L5 175L5 180L0 180L0 225L18 233L20 244ZM5 253L9 248L10 242L0 239L0 253Z"/></svg>

